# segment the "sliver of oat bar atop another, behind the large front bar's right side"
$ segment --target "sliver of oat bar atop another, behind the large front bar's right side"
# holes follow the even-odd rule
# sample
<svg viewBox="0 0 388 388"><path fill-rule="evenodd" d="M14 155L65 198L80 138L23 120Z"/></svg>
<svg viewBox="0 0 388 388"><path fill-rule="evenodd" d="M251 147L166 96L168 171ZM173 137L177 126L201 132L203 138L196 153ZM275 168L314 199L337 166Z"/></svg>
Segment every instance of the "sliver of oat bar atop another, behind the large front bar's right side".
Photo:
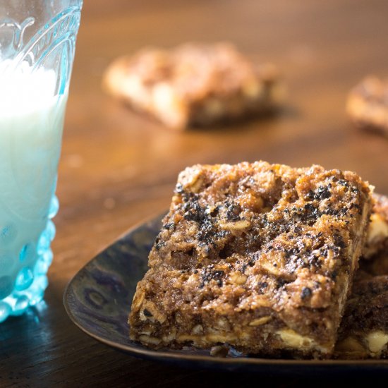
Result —
<svg viewBox="0 0 388 388"><path fill-rule="evenodd" d="M368 259L384 248L388 249L388 198L385 195L373 194L373 211L367 240L363 249L363 258Z"/></svg>

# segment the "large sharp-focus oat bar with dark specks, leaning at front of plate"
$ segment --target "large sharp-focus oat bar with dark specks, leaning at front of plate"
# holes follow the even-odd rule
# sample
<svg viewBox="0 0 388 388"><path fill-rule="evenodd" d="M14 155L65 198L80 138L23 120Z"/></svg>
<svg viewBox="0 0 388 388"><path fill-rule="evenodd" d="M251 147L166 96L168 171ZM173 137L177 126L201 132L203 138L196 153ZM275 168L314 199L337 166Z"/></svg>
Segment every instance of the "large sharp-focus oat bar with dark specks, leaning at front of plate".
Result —
<svg viewBox="0 0 388 388"><path fill-rule="evenodd" d="M133 298L131 339L330 356L371 207L368 184L349 171L186 169Z"/></svg>

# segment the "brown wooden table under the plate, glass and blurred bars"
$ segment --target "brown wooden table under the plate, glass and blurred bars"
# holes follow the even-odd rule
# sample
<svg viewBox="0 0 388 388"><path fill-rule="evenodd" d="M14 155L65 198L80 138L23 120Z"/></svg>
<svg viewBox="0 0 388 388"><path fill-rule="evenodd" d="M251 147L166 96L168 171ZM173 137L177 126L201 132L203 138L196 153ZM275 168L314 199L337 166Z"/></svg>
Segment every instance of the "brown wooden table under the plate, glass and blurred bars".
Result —
<svg viewBox="0 0 388 388"><path fill-rule="evenodd" d="M301 386L299 377L181 369L90 339L68 319L63 290L96 253L166 209L178 171L264 159L351 169L388 194L388 140L354 130L349 88L388 73L384 0L86 0L68 101L54 262L44 303L0 325L1 387ZM279 116L217 131L169 131L107 97L111 59L146 44L231 40L279 64L289 100ZM315 382L317 386L317 382Z"/></svg>

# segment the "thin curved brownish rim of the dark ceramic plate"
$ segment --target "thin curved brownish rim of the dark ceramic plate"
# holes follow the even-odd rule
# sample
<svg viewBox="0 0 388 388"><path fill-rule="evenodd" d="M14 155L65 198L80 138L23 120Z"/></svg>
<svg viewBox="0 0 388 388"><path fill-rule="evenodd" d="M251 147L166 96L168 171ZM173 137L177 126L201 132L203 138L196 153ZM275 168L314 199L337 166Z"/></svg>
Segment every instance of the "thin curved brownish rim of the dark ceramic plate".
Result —
<svg viewBox="0 0 388 388"><path fill-rule="evenodd" d="M168 351L155 351L149 348L145 348L142 346L142 348L136 348L130 345L126 344L120 344L116 341L110 341L109 339L104 339L103 337L99 337L99 335L94 334L93 332L90 332L89 330L85 329L83 325L78 322L75 315L73 315L73 312L71 310L71 307L69 305L69 299L71 298L71 285L75 281L77 277L82 274L82 272L85 272L85 269L91 265L91 263L99 257L99 255L102 255L108 248L110 248L112 245L119 243L119 241L122 241L124 238L127 238L133 232L138 230L141 226L145 226L146 224L149 224L151 222L154 222L156 219L162 218L162 216L166 214L166 212L159 212L158 214L154 215L153 217L147 217L143 219L140 222L136 222L131 228L127 229L123 232L123 234L120 234L116 240L112 241L108 245L106 245L102 250L99 251L92 259L90 259L83 267L78 269L78 271L71 277L71 279L66 284L65 290L63 291L63 305L66 310L66 313L68 317L70 318L71 322L78 327L82 332L87 334L89 337L92 337L93 339L96 339L97 341L101 342L102 344L105 344L107 346L110 346L111 348L115 348L119 351L124 351L126 353L130 353L132 356L138 356L140 358L147 358L150 360L185 360L190 361L191 363L200 363L200 362L206 362L211 365L236 365L236 364L246 364L246 365L284 365L284 366L290 366L290 367L306 367L306 366L317 366L317 367L329 367L329 366L345 366L345 367L363 367L363 366L375 366L375 367L387 367L388 370L388 359L324 359L324 360L316 360L316 359L284 359L284 358L255 358L255 357L217 357L217 356L207 356L207 355L198 355L198 354L186 354L186 353L180 353L180 352L168 352Z"/></svg>

